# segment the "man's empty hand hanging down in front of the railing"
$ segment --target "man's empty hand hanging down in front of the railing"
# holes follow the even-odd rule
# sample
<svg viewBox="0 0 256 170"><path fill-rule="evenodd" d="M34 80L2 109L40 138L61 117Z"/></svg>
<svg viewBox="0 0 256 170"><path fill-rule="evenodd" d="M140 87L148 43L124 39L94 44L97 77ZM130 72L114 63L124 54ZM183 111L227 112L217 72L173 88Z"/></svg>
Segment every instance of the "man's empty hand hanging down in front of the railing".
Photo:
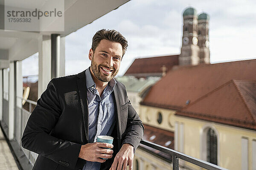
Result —
<svg viewBox="0 0 256 170"><path fill-rule="evenodd" d="M116 154L110 170L126 170L129 165L129 170L132 170L132 162L134 159L134 147L131 144L125 143L122 145L119 152Z"/></svg>

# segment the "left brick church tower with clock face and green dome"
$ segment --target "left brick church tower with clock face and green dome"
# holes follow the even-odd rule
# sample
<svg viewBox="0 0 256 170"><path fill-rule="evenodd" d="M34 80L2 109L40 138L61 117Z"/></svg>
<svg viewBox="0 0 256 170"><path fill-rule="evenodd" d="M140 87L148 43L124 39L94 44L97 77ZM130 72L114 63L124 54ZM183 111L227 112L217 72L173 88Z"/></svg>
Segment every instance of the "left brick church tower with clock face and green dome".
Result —
<svg viewBox="0 0 256 170"><path fill-rule="evenodd" d="M195 8L183 12L183 37L179 65L199 64L198 15Z"/></svg>

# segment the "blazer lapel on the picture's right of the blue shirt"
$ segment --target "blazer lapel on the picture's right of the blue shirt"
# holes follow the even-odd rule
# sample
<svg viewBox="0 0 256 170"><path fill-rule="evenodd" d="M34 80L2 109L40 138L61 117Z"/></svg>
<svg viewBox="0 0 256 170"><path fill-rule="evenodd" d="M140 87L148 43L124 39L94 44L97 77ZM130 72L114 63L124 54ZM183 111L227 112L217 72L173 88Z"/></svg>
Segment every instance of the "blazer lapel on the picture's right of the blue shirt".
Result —
<svg viewBox="0 0 256 170"><path fill-rule="evenodd" d="M118 146L121 148L121 135L122 135L122 127L121 127L121 112L120 112L120 107L121 107L121 101L120 101L120 96L117 88L117 83L114 87L114 96L116 100L116 126L117 126L117 139L118 139Z"/></svg>

